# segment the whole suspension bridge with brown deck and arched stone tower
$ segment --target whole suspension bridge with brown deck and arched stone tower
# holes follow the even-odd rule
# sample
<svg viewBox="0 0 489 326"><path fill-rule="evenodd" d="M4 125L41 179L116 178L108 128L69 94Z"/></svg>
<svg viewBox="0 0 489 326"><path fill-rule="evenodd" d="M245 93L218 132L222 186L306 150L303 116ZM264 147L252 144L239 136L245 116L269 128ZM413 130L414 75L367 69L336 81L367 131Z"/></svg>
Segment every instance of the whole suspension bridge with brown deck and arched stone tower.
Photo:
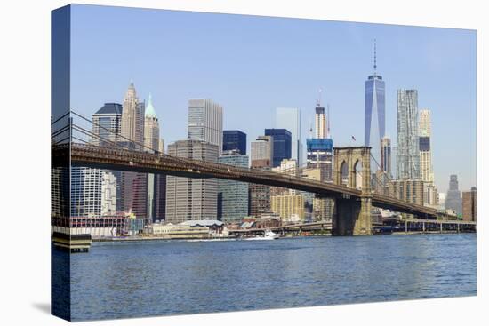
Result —
<svg viewBox="0 0 489 326"><path fill-rule="evenodd" d="M434 208L374 191L371 186L370 147L334 147L333 182L321 182L301 177L301 173L279 173L180 158L147 151L144 148L135 150L134 145L120 146L108 139L98 142L84 140L80 138L80 134L88 136L89 139L98 136L93 135L90 128L79 124L71 120L59 131L52 133L52 139L58 139L52 141L53 167L70 164L187 178L230 179L314 193L317 197L334 199L335 235L371 235L373 207L410 214L417 219L445 219L445 216ZM61 137L63 134L68 134L68 137ZM358 165L362 167L361 172L357 170Z"/></svg>

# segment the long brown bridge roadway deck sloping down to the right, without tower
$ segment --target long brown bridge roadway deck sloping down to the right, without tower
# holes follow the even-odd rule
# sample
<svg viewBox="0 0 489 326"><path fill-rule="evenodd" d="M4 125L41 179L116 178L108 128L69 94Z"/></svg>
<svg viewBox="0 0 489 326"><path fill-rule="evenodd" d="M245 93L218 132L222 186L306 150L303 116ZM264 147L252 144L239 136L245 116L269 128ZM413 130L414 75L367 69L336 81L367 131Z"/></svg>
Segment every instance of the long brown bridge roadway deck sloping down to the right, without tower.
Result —
<svg viewBox="0 0 489 326"><path fill-rule="evenodd" d="M171 155L137 152L114 147L97 147L71 143L52 147L52 166L86 166L92 168L135 171L145 173L164 173L187 178L218 178L255 184L285 187L306 191L323 197L359 199L361 190L351 187L299 178L289 174L272 171L241 168L220 163L209 163ZM407 203L387 195L372 194L372 205L392 211L405 212L425 219L436 219L435 209Z"/></svg>

